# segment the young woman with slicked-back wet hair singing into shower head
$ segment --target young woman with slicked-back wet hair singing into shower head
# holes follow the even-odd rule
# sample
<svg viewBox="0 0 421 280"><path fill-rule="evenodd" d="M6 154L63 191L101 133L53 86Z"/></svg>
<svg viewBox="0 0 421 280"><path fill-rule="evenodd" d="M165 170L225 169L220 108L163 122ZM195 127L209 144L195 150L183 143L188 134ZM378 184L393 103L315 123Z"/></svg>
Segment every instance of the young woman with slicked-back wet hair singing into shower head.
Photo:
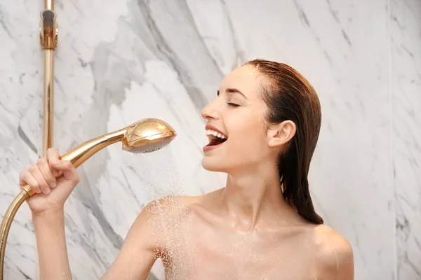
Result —
<svg viewBox="0 0 421 280"><path fill-rule="evenodd" d="M309 194L321 125L309 82L286 64L256 59L229 73L201 115L209 138L202 165L227 173L226 186L150 203L102 279L146 279L156 258L166 279L354 279L351 246L323 225ZM72 278L63 207L79 176L58 156L51 148L20 173L20 186L39 193L27 203L44 280Z"/></svg>

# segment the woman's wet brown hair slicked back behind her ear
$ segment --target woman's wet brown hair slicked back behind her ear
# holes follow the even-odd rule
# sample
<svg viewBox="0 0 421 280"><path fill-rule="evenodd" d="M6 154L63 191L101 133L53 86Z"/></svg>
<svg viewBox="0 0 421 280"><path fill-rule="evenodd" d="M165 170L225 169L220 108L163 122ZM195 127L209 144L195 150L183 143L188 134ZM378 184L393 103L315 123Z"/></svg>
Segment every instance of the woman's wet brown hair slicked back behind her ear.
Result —
<svg viewBox="0 0 421 280"><path fill-rule="evenodd" d="M312 223L321 224L309 192L310 161L319 139L321 108L319 97L310 83L292 67L265 59L255 59L245 65L254 66L267 78L262 85L262 98L267 104L268 123L291 120L297 130L278 160L283 197L298 214Z"/></svg>

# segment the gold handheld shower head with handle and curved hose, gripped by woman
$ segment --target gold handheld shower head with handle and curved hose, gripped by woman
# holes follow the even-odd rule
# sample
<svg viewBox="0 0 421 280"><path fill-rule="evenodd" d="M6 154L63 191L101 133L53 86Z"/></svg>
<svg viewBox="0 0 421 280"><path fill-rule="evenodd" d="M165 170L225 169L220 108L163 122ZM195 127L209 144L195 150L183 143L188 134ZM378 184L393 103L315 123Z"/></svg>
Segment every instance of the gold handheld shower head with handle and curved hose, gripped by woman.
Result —
<svg viewBox="0 0 421 280"><path fill-rule="evenodd" d="M69 160L75 168L91 158L111 144L121 141L123 150L132 153L150 153L168 145L177 136L173 127L168 123L155 118L140 120L133 125L129 125L121 130L104 134L89 141L86 141L64 155L61 160ZM60 178L60 172L56 178ZM0 280L3 279L4 254L6 250L6 241L9 229L16 212L25 200L34 195L34 191L28 186L24 186L19 195L15 197L11 205L4 214L0 225Z"/></svg>

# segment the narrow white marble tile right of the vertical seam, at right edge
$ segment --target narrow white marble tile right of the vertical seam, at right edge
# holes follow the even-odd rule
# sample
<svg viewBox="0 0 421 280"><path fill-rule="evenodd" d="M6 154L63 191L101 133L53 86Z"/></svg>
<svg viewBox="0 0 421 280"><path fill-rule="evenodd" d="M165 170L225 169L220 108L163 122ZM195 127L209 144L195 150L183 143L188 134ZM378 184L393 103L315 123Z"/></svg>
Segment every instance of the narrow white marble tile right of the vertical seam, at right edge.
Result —
<svg viewBox="0 0 421 280"><path fill-rule="evenodd" d="M397 279L421 279L421 2L392 1Z"/></svg>

